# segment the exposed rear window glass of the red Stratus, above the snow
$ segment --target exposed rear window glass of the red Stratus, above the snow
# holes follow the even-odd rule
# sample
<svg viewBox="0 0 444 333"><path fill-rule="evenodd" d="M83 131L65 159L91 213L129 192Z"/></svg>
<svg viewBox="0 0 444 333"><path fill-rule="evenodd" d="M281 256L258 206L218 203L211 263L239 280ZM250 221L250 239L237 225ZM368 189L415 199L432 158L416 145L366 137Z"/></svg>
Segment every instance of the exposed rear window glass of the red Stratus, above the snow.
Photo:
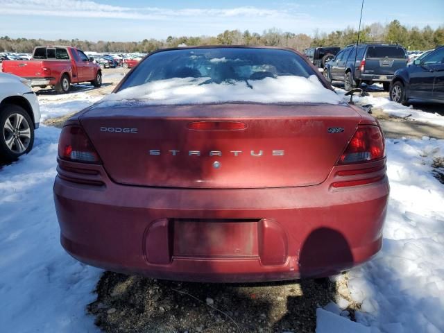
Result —
<svg viewBox="0 0 444 333"><path fill-rule="evenodd" d="M308 78L314 71L298 54L279 49L183 49L146 58L121 89L171 78L205 78L205 83L261 80L279 76Z"/></svg>

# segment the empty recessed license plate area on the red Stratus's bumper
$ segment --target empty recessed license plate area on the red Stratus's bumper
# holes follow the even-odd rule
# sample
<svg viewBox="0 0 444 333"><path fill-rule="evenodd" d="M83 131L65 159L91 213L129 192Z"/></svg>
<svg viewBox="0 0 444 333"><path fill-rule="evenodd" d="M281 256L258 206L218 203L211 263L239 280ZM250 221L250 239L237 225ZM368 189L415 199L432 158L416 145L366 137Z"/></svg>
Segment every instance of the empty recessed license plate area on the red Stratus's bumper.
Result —
<svg viewBox="0 0 444 333"><path fill-rule="evenodd" d="M173 219L173 257L258 257L259 219Z"/></svg>

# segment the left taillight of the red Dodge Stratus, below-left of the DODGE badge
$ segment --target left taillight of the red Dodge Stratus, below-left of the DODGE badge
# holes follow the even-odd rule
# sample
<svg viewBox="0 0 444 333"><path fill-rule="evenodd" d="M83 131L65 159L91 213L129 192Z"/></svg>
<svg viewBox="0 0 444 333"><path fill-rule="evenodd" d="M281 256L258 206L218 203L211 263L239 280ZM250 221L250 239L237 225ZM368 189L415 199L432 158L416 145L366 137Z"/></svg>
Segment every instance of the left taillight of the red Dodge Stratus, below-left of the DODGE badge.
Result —
<svg viewBox="0 0 444 333"><path fill-rule="evenodd" d="M101 163L99 154L80 126L65 126L58 140L58 155L64 160Z"/></svg>

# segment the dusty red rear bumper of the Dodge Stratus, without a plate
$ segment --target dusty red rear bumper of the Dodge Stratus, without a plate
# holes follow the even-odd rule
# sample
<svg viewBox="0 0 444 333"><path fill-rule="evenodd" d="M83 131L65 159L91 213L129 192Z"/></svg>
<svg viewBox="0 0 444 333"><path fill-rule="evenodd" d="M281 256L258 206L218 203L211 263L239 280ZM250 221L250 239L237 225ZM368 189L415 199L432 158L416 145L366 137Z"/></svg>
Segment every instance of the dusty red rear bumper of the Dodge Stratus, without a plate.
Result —
<svg viewBox="0 0 444 333"><path fill-rule="evenodd" d="M382 246L386 177L342 189L330 187L336 172L312 187L165 189L118 185L94 168L102 186L59 169L53 187L62 246L92 266L168 280L292 280L347 270Z"/></svg>

